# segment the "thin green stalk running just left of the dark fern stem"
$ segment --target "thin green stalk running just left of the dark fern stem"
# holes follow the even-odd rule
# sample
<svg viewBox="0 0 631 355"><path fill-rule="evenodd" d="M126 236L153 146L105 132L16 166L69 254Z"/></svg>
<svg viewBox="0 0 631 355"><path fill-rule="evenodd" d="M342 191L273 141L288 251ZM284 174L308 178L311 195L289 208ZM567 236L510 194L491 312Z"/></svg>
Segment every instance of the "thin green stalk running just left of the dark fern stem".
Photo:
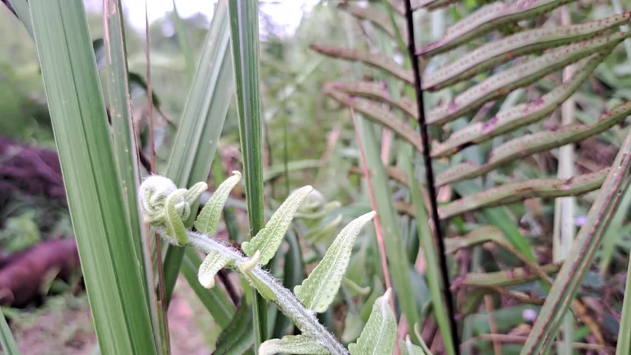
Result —
<svg viewBox="0 0 631 355"><path fill-rule="evenodd" d="M404 159L406 161L404 161L403 164L407 167L410 181L416 181L416 174L410 157L404 155ZM445 285L442 284L440 279L438 267L439 259L436 255L432 231L428 224L429 217L417 184L410 184L410 195L416 211L418 238L423 246L423 255L425 255L425 263L427 264L425 274L427 275L430 293L432 294L433 313L440 329L440 337L442 338L445 352L447 354L455 354L454 340L451 336L451 327L449 325L449 313L447 312L447 306L442 296L442 290L445 288Z"/></svg>

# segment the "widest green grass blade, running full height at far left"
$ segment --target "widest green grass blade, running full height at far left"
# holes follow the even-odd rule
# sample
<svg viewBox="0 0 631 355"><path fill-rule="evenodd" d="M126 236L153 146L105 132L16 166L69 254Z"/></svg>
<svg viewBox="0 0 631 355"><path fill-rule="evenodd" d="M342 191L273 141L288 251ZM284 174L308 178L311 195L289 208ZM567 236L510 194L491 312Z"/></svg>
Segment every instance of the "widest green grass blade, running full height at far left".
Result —
<svg viewBox="0 0 631 355"><path fill-rule="evenodd" d="M30 7L100 351L156 354L83 3Z"/></svg>

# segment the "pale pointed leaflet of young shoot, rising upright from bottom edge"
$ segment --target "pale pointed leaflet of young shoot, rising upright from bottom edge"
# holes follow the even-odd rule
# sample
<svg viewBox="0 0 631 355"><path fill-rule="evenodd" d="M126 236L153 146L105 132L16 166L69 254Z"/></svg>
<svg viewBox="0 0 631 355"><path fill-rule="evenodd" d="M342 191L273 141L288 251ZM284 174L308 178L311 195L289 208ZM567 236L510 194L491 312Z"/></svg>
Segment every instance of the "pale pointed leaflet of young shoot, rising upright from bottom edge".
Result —
<svg viewBox="0 0 631 355"><path fill-rule="evenodd" d="M391 355L394 351L396 322L388 304L391 292L388 289L384 296L375 300L362 335L357 343L348 346L351 355Z"/></svg>

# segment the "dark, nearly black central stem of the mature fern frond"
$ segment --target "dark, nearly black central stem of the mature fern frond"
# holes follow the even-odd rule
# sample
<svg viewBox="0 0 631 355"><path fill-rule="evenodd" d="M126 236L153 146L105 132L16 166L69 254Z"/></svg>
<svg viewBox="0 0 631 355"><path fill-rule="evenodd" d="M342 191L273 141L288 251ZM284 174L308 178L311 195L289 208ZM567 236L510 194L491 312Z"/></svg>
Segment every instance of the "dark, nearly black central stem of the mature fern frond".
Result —
<svg viewBox="0 0 631 355"><path fill-rule="evenodd" d="M408 53L410 55L410 63L414 71L414 88L416 93L416 109L418 110L418 129L423 143L423 161L425 162L425 180L427 190L430 197L432 207L432 221L436 246L440 256L440 275L442 276L443 292L445 302L447 303L447 312L449 313L449 325L451 327L452 339L454 341L454 351L456 355L460 353L458 328L456 324L456 315L454 311L454 302L449 291L449 269L447 268L447 256L445 255L445 244L442 239L442 230L440 229L440 219L438 214L438 202L436 198L436 188L434 186L434 175L432 169L432 157L430 156L430 143L427 134L427 123L425 122L425 105L423 104L423 88L421 80L421 69L418 65L418 57L416 57L416 42L414 38L414 21L413 10L410 0L405 0L405 18L408 28ZM425 248L433 246L426 245ZM431 266L430 266L431 267Z"/></svg>

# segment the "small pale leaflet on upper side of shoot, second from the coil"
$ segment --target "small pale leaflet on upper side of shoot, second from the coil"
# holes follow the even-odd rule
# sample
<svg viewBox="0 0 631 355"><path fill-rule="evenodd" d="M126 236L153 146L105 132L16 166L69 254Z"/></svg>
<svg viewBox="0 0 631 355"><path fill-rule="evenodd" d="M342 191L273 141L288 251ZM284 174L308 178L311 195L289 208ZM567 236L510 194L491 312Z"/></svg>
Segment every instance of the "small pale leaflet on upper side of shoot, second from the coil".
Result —
<svg viewBox="0 0 631 355"><path fill-rule="evenodd" d="M204 234L213 236L217 232L219 220L221 219L221 211L230 196L230 191L237 186L241 180L241 173L233 171L233 176L223 181L213 193L213 196L206 202L204 208L199 212L198 219L195 221L195 228Z"/></svg>

